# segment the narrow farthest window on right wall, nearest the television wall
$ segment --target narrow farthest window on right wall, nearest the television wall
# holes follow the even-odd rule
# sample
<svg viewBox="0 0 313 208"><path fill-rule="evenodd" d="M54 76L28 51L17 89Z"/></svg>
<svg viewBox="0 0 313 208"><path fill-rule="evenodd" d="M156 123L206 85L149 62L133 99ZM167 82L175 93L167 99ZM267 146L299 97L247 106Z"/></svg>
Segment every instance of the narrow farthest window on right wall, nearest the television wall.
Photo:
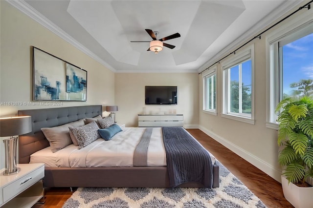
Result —
<svg viewBox="0 0 313 208"><path fill-rule="evenodd" d="M216 115L216 66L203 74L203 110Z"/></svg>

